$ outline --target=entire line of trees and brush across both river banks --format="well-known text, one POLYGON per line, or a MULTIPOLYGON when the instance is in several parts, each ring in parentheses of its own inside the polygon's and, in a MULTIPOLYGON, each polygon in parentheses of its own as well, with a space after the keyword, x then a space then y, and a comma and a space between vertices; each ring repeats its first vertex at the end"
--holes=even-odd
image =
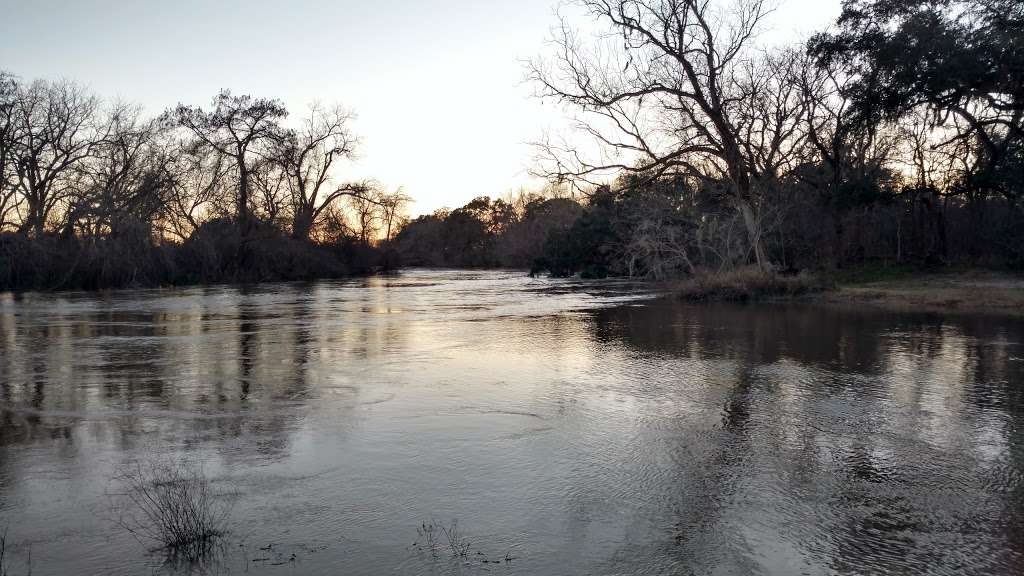
POLYGON ((0 289, 420 265, 670 278, 865 261, 1024 268, 1024 2, 845 0, 765 49, 763 0, 575 0, 531 64, 575 130, 544 195, 406 222, 339 181, 351 116, 218 94, 155 118, 0 74, 0 289), (601 28, 603 27, 603 30, 601 28))

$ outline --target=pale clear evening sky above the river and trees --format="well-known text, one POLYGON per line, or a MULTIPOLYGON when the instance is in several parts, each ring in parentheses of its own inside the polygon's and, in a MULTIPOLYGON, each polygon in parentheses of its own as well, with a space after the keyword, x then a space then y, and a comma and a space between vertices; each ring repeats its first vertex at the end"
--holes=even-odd
MULTIPOLYGON (((539 188, 530 141, 563 112, 534 97, 559 0, 0 0, 0 69, 67 78, 158 114, 222 88, 357 116, 359 156, 413 214, 539 188)), ((766 43, 806 38, 840 0, 781 0, 766 43)))

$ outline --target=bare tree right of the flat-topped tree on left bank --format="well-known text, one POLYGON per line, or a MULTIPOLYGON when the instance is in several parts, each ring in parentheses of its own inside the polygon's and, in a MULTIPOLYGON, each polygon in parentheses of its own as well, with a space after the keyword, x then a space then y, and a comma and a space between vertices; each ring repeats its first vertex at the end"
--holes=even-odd
POLYGON ((283 140, 276 157, 291 195, 293 238, 307 240, 324 211, 342 197, 375 202, 370 182, 334 182, 337 163, 355 155, 358 140, 348 128, 351 120, 351 113, 340 107, 313 105, 302 127, 283 140))

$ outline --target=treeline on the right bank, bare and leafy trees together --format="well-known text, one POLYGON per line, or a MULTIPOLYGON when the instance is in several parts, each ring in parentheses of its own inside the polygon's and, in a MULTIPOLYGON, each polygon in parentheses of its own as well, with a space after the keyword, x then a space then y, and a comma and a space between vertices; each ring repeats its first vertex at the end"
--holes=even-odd
POLYGON ((579 128, 538 142, 537 173, 580 202, 419 218, 398 237, 410 261, 650 278, 1024 268, 1019 0, 846 0, 831 32, 768 50, 758 0, 577 4, 604 29, 563 22, 530 77, 579 128))

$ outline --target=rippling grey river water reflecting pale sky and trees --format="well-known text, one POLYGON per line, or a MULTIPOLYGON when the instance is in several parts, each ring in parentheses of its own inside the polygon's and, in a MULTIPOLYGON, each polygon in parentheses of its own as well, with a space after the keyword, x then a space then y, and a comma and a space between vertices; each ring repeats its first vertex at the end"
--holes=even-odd
POLYGON ((7 569, 1024 570, 1024 322, 643 290, 411 271, 0 295, 7 569), (215 558, 120 526, 116 479, 154 458, 230 499, 215 558), (453 521, 466 558, 413 545, 453 521))

